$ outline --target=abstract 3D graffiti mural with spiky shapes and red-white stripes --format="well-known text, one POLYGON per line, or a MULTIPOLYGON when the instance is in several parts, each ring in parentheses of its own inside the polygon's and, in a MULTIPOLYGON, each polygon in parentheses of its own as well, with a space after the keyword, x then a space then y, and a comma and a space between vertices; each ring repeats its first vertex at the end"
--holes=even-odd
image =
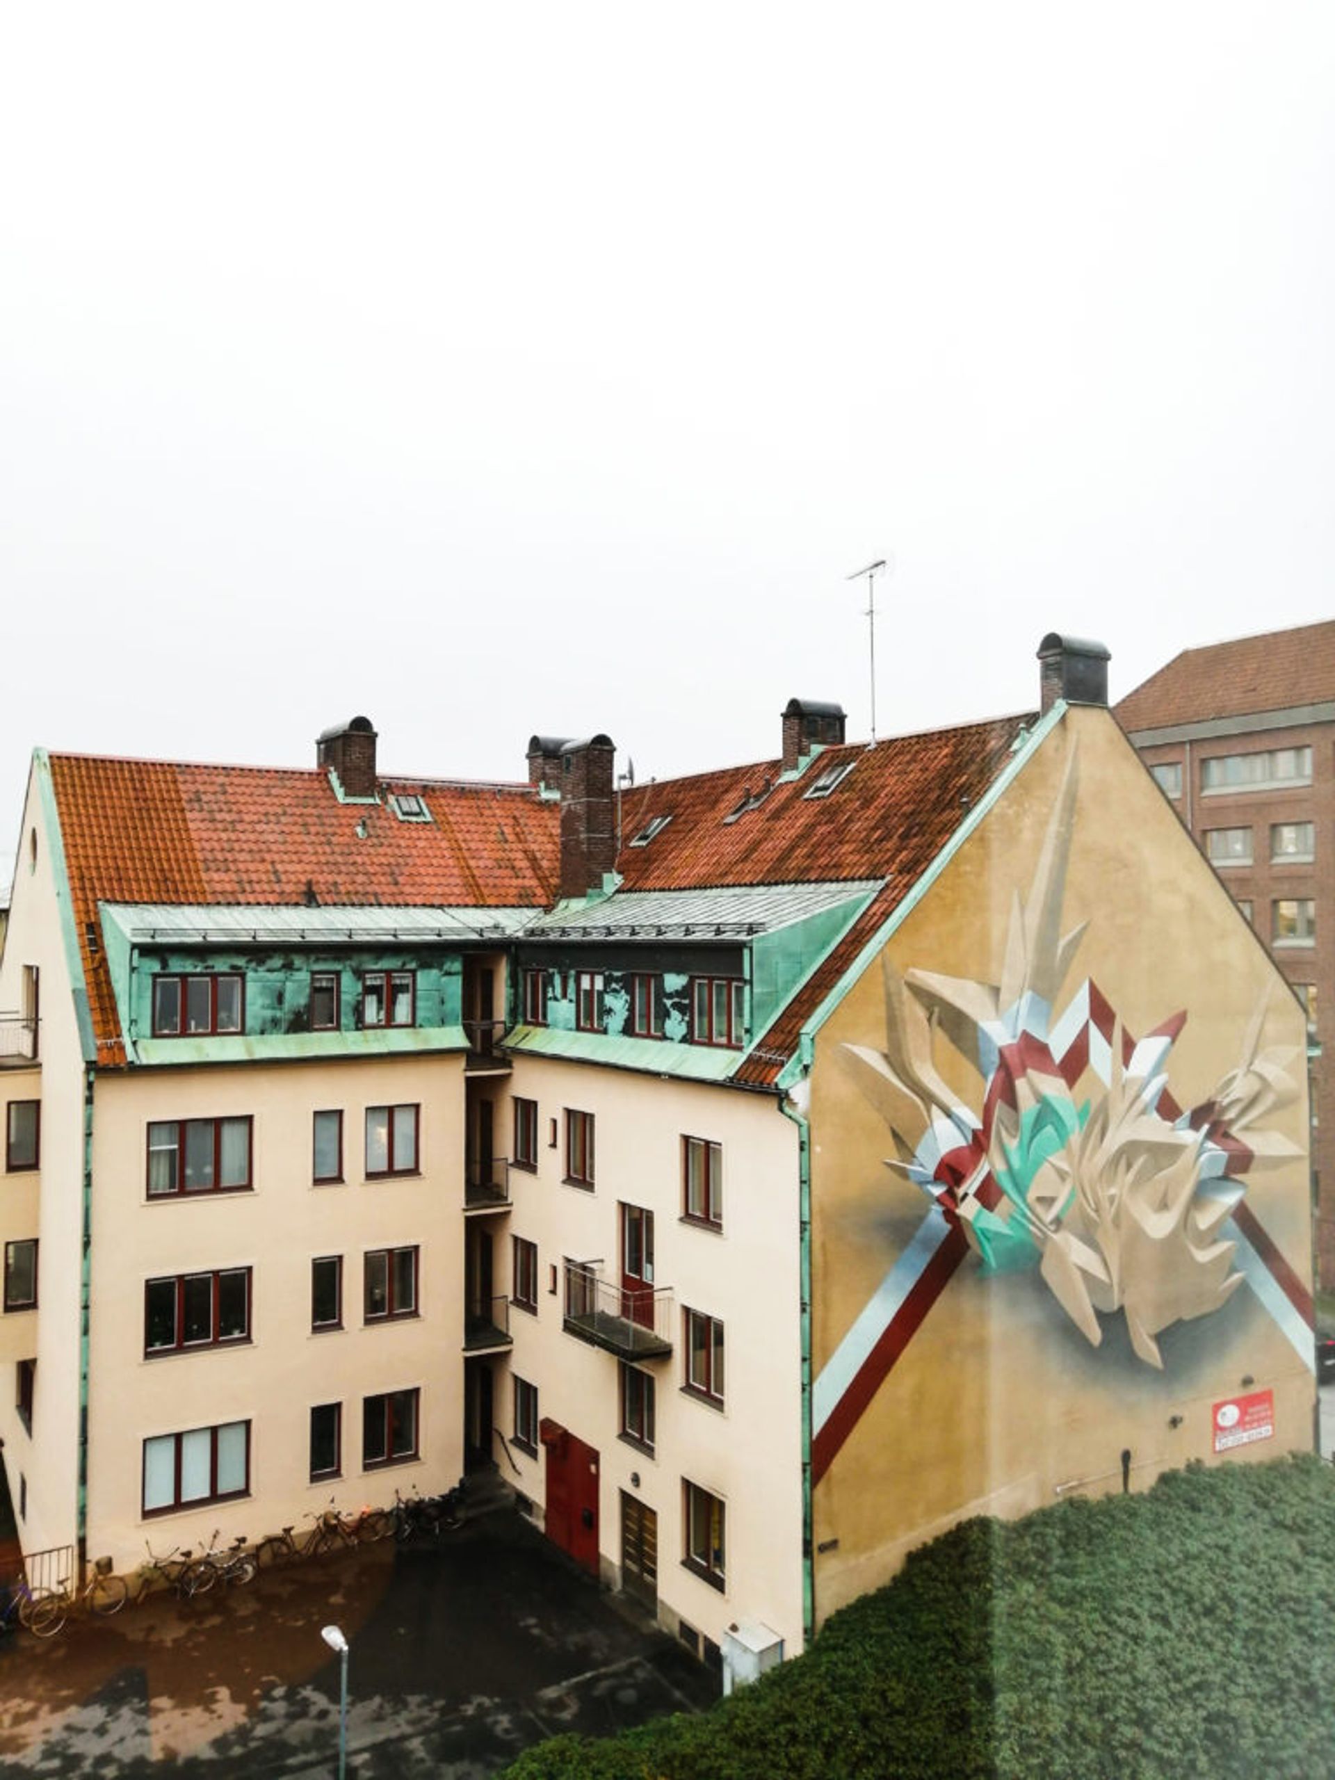
POLYGON ((1301 1155, 1271 1129, 1299 1091, 1301 1047, 1262 1045, 1266 991, 1228 1072, 1182 1107, 1169 1075, 1187 1011, 1136 1038, 1095 981, 1070 981, 1089 926, 1063 933, 1077 783, 1072 749, 997 979, 901 974, 883 956, 885 1041, 838 1047, 890 1132, 886 1166, 931 1210, 817 1376, 817 1479, 970 1258, 990 1273, 1036 1269, 1095 1347, 1100 1315, 1120 1312, 1155 1369, 1164 1330, 1248 1280, 1310 1356, 1310 1298, 1244 1205, 1248 1175, 1301 1155))

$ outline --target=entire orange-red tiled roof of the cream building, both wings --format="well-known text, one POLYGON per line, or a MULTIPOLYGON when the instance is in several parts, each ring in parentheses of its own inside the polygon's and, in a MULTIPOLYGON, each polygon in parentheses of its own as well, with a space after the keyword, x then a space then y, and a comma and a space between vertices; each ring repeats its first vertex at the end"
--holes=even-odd
MULTIPOLYGON (((771 1086, 797 1036, 867 940, 917 883, 1011 758, 1032 714, 828 748, 724 822, 780 762, 664 780, 627 792, 618 869, 628 890, 888 878, 851 931, 765 1032, 735 1080, 771 1086), (806 792, 853 762, 829 797, 806 792), (646 847, 653 815, 673 821, 646 847)), ((555 895, 559 806, 527 785, 390 780, 425 797, 434 822, 383 805, 338 803, 324 773, 52 755, 75 924, 101 1063, 123 1063, 98 902, 290 902, 545 906, 555 895), (358 824, 367 837, 360 838, 358 824)))

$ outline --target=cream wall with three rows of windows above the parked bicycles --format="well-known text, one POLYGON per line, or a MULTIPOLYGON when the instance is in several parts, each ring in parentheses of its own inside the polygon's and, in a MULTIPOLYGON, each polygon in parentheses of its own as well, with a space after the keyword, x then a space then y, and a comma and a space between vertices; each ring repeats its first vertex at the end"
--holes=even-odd
POLYGON ((246 1533, 253 1541, 340 1508, 393 1502, 395 1486, 449 1488, 463 1468, 463 1059, 139 1070, 101 1077, 93 1175, 89 1552, 128 1566, 153 1549, 246 1533), (368 1105, 418 1104, 420 1173, 365 1178, 368 1105), (312 1184, 312 1114, 344 1111, 344 1184, 312 1184), (246 1114, 249 1193, 146 1200, 146 1127, 246 1114), (363 1253, 420 1250, 411 1319, 363 1326, 363 1253), (344 1257, 344 1328, 312 1333, 312 1260, 344 1257), (253 1269, 251 1342, 144 1358, 144 1282, 253 1269), (420 1390, 420 1460, 363 1472, 361 1399, 420 1390), (315 1404, 344 1404, 342 1479, 310 1483, 315 1404), (141 1513, 146 1438, 251 1422, 246 1501, 141 1513))

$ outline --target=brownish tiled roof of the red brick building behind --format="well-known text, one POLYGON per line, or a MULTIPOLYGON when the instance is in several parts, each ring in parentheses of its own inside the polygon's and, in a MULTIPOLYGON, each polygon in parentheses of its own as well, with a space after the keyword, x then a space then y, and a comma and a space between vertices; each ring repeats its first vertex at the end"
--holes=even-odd
POLYGON ((1335 698, 1335 619, 1184 650, 1116 707, 1123 730, 1246 717, 1335 698))

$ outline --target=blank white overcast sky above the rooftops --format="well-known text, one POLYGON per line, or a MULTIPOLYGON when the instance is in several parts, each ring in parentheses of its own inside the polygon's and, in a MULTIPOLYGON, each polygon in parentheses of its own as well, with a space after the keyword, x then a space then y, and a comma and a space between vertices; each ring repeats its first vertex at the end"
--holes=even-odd
POLYGON ((1335 9, 0 14, 34 744, 641 778, 1335 612, 1335 9))

